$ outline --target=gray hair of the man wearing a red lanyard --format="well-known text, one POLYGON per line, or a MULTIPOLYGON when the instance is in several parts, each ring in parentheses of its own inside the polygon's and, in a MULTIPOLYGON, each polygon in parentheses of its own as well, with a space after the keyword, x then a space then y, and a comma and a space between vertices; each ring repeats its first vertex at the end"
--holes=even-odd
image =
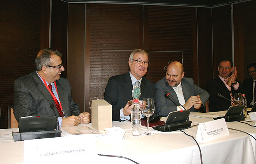
POLYGON ((40 50, 36 56, 36 70, 42 70, 43 66, 51 65, 50 58, 52 55, 62 56, 60 52, 52 48, 43 48, 40 50))

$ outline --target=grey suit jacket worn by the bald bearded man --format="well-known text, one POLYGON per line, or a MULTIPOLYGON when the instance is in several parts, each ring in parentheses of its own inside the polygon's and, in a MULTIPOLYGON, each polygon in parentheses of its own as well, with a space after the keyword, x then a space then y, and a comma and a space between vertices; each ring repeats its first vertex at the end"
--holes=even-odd
MULTIPOLYGON (((182 78, 181 80, 181 86, 182 86, 182 92, 185 101, 187 101, 191 96, 197 96, 200 95, 200 99, 202 100, 202 105, 204 106, 205 102, 209 98, 209 94, 206 92, 206 90, 203 90, 202 88, 195 85, 194 80, 192 78, 182 78)), ((156 104, 156 111, 158 112, 158 115, 162 116, 168 116, 170 112, 177 111, 177 106, 179 104, 176 104, 172 102, 172 100, 169 100, 169 98, 166 98, 165 92, 169 92, 170 95, 177 101, 178 96, 174 89, 170 87, 165 77, 156 82, 155 86, 155 104, 156 104)), ((190 108, 191 111, 197 112, 198 110, 194 107, 190 108)))

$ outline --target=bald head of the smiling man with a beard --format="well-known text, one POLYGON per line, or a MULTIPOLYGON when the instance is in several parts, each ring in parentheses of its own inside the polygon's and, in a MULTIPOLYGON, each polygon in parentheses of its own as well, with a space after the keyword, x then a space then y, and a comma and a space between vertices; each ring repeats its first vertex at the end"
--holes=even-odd
POLYGON ((184 68, 180 62, 171 62, 166 70, 165 80, 171 87, 176 87, 180 84, 184 77, 184 68))

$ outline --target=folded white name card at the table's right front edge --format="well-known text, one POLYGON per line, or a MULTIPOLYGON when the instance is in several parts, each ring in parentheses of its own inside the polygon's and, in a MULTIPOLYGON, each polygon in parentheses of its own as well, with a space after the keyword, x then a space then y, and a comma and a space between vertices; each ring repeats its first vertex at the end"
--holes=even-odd
POLYGON ((229 134, 224 118, 200 123, 196 132, 196 141, 200 143, 209 142, 229 134))

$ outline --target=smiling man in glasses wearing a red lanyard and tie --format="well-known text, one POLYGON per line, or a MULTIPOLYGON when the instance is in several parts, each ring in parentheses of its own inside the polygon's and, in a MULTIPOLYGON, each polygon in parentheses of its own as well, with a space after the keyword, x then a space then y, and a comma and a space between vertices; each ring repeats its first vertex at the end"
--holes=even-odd
POLYGON ((51 48, 40 50, 36 56, 36 70, 14 82, 14 116, 55 116, 60 126, 88 124, 90 114, 80 113, 71 97, 70 83, 61 78, 64 71, 62 54, 51 48))

